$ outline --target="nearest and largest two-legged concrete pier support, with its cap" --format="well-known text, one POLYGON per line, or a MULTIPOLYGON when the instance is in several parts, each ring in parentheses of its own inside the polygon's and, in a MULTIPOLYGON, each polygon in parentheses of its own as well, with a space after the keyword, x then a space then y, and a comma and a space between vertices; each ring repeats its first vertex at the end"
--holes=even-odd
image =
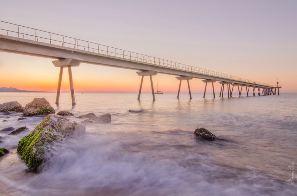
POLYGON ((61 92, 61 83, 62 83, 62 75, 63 75, 63 68, 68 67, 68 76, 69 76, 69 84, 70 84, 70 93, 71 93, 71 100, 72 106, 75 105, 75 95, 74 95, 74 87, 73 87, 73 79, 72 79, 72 70, 71 67, 77 67, 82 62, 82 59, 79 58, 66 58, 60 60, 52 61, 55 67, 60 67, 60 74, 59 74, 59 81, 58 81, 58 89, 56 95, 56 104, 59 105, 59 98, 61 92))

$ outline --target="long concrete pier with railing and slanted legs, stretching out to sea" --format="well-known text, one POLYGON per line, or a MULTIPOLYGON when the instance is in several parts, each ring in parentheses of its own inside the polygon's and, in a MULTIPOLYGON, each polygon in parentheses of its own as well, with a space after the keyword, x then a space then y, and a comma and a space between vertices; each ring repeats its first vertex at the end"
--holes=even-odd
POLYGON ((4 21, 0 21, 0 51, 57 59, 52 61, 54 66, 60 67, 56 104, 59 104, 63 68, 68 68, 72 105, 75 105, 71 67, 79 66, 81 62, 137 70, 136 73, 141 76, 138 100, 140 100, 144 76, 150 76, 153 100, 155 100, 152 76, 158 73, 175 75, 180 80, 177 98, 179 98, 181 81, 187 80, 190 99, 192 99, 189 80, 193 78, 202 79, 205 82, 203 97, 205 97, 207 83, 212 83, 215 98, 214 82, 217 81, 221 84, 220 97, 223 97, 225 85, 228 97, 232 97, 234 86, 238 87, 239 97, 243 87, 245 87, 247 96, 249 96, 250 88, 253 89, 253 96, 256 94, 258 96, 275 95, 276 93, 279 95, 279 88, 281 88, 278 85, 272 86, 4 21))

